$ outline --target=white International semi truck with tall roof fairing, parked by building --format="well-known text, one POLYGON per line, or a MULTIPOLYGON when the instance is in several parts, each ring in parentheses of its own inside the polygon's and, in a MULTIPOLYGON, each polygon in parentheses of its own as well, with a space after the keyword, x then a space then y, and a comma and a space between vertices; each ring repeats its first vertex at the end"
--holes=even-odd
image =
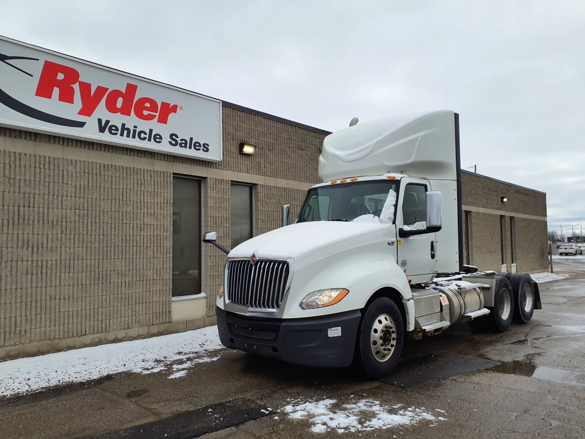
POLYGON ((229 252, 215 232, 204 235, 228 253, 216 303, 222 344, 380 378, 407 335, 531 320, 541 301, 529 275, 463 265, 459 115, 354 122, 326 136, 323 183, 294 224, 229 252))

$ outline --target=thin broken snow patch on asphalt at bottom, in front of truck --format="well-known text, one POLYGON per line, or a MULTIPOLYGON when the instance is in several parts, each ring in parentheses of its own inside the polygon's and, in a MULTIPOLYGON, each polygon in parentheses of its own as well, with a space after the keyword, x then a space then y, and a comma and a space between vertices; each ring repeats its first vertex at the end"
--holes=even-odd
MULTIPOLYGON (((311 421, 313 424, 311 431, 314 433, 326 433, 333 430, 337 433, 355 433, 374 430, 374 428, 385 429, 415 424, 422 420, 446 420, 439 414, 429 413, 424 407, 403 408, 402 404, 389 406, 372 399, 362 399, 348 404, 338 404, 335 399, 307 402, 292 400, 282 410, 292 419, 311 421)), ((435 411, 445 414, 443 410, 435 409, 435 411)))

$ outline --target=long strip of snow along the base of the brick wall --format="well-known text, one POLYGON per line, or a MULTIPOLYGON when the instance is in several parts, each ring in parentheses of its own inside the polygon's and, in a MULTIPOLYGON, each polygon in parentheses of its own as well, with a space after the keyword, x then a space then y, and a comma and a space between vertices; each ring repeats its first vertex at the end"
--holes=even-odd
POLYGON ((0 397, 85 382, 118 372, 187 374, 195 363, 215 361, 222 349, 216 326, 0 362, 0 397))

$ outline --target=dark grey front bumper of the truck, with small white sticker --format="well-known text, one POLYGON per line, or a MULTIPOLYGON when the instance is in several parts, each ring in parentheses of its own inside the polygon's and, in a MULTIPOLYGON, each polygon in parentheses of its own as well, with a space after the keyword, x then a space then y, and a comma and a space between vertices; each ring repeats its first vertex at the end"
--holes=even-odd
POLYGON ((231 349, 315 367, 351 365, 362 313, 269 319, 216 308, 219 339, 231 349))

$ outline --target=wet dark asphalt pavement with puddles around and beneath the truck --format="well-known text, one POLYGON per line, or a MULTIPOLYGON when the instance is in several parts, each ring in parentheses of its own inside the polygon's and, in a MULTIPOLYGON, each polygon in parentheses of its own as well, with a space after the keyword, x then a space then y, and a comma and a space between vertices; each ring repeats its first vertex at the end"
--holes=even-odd
POLYGON ((181 378, 119 373, 0 399, 0 438, 583 438, 585 259, 555 258, 555 272, 572 276, 540 284, 530 323, 411 341, 382 380, 222 349, 181 378), (298 408, 326 399, 329 424, 298 408), (364 401, 373 409, 347 410, 364 401))

